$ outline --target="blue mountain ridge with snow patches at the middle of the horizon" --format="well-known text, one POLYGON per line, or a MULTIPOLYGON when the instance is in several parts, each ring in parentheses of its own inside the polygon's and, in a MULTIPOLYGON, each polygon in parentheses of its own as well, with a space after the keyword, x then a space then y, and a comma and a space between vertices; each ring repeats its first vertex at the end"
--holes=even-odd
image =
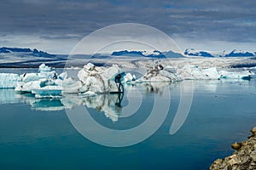
POLYGON ((135 57, 149 57, 149 58, 180 58, 183 54, 175 53, 172 51, 160 52, 158 50, 154 51, 113 51, 111 54, 113 56, 135 56, 135 57))

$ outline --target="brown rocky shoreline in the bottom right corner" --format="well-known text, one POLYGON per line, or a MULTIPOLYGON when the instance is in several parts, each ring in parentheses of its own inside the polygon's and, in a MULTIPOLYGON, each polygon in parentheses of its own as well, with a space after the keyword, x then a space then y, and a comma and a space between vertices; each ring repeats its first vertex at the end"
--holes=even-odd
POLYGON ((241 143, 232 144, 236 150, 232 156, 224 159, 217 159, 210 167, 210 170, 253 170, 256 169, 256 127, 252 130, 252 135, 241 143))

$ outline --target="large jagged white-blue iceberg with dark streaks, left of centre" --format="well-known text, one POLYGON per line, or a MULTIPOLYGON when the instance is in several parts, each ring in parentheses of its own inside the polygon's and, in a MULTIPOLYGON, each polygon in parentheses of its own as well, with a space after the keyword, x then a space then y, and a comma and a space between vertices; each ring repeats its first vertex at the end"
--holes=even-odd
MULTIPOLYGON (((58 98, 62 94, 86 94, 119 92, 119 85, 124 80, 125 72, 118 65, 97 67, 91 63, 79 71, 79 81, 67 77, 67 72, 57 75, 47 65, 40 65, 38 73, 25 73, 16 83, 15 91, 35 94, 36 98, 58 98), (119 78, 117 78, 119 77, 119 78)), ((125 81, 128 81, 129 75, 125 81)), ((123 86, 121 86, 122 91, 123 86)))

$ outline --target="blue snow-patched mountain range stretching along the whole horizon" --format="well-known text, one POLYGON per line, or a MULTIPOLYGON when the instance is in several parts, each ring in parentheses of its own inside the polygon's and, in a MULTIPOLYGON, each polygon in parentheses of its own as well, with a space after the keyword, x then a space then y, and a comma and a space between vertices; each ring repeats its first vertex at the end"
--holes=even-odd
MULTIPOLYGON (((15 56, 34 56, 41 58, 55 58, 60 57, 63 58, 64 55, 60 54, 49 54, 47 52, 38 50, 36 48, 8 48, 3 47, 0 48, 0 55, 15 55, 15 56)), ((80 55, 79 55, 80 56, 80 55)), ((88 55, 87 55, 88 56, 88 55)), ((139 51, 139 50, 119 50, 113 51, 111 54, 95 54, 92 58, 105 58, 105 57, 118 57, 118 56, 129 56, 129 57, 146 57, 146 58, 181 58, 185 56, 191 57, 254 57, 256 56, 256 52, 249 51, 241 51, 241 50, 232 50, 232 51, 208 51, 208 50, 197 50, 195 48, 187 48, 183 54, 175 53, 172 51, 164 51, 160 52, 159 50, 154 50, 151 52, 148 51, 139 51)), ((67 58, 67 54, 66 54, 67 58)), ((80 56, 80 58, 83 58, 80 56)))

